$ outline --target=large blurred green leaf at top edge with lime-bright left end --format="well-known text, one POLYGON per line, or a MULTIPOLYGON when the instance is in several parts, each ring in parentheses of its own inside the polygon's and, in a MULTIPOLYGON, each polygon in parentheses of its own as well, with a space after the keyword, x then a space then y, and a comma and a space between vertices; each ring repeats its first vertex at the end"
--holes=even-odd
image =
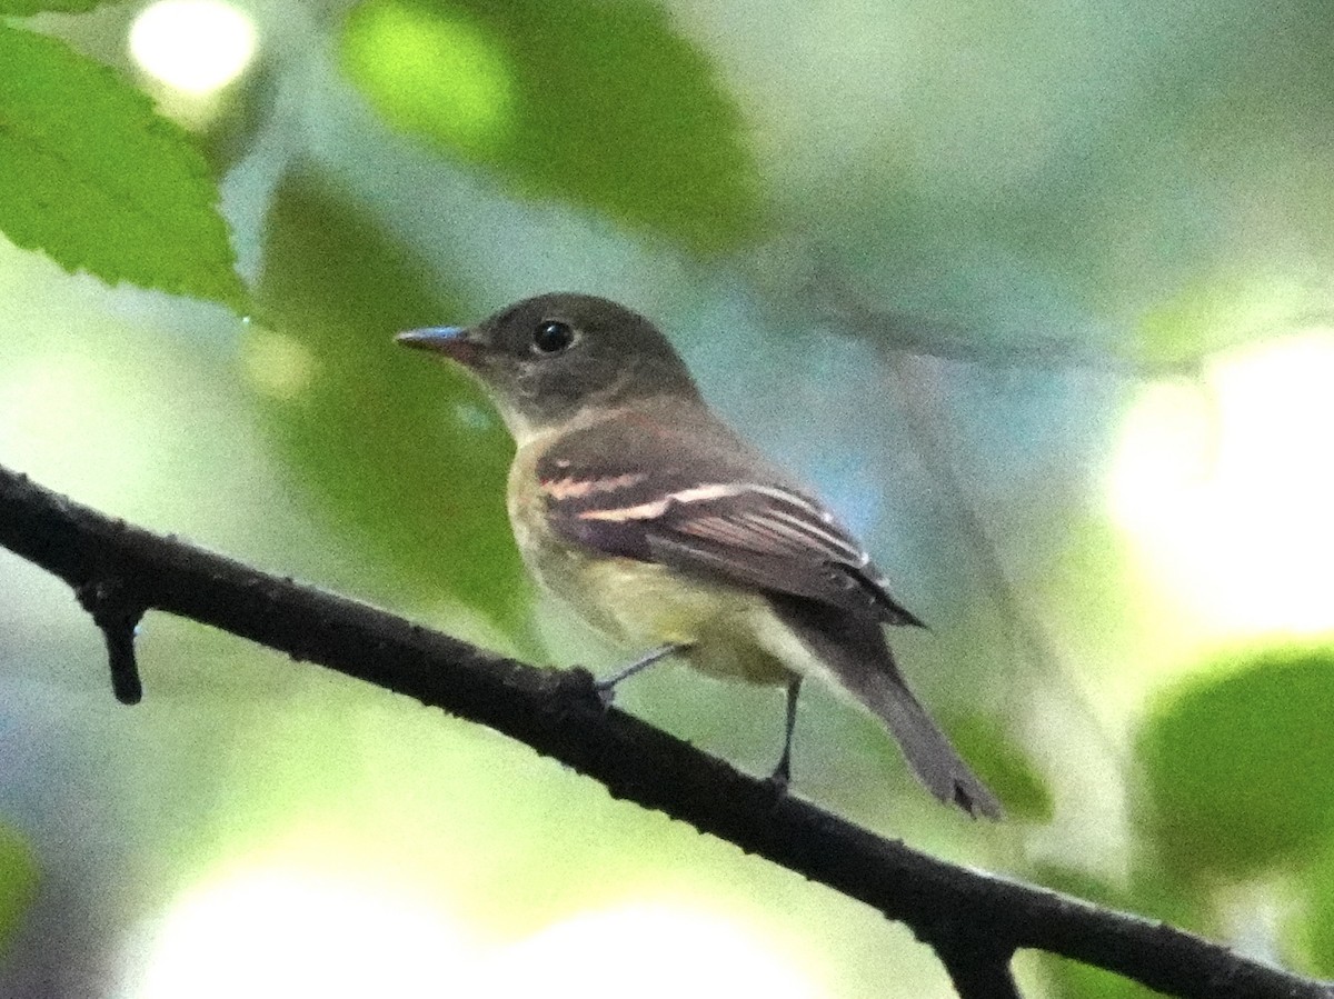
POLYGON ((370 0, 342 37, 348 76, 395 127, 702 252, 759 231, 731 99, 644 0, 370 0))

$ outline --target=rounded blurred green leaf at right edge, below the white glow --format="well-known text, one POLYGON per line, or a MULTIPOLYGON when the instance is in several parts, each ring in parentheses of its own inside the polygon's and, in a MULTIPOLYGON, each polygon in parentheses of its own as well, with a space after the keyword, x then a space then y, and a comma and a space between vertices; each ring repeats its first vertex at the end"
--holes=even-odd
POLYGON ((1219 664, 1146 723, 1139 759, 1163 862, 1254 874, 1334 832, 1334 651, 1219 664))

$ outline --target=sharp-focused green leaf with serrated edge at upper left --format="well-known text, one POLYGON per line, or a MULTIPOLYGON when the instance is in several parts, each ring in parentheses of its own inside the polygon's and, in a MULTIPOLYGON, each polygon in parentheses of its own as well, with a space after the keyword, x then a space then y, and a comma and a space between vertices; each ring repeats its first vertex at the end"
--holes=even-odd
POLYGON ((0 231, 89 271, 243 311, 217 188, 183 129, 63 41, 0 24, 0 231))

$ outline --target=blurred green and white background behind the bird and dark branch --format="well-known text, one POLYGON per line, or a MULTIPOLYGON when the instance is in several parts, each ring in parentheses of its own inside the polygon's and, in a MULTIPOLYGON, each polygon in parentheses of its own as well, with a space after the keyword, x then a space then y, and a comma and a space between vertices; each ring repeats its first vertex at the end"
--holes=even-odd
MULTIPOLYGON (((23 101, 77 73, 0 69, 0 463, 607 667, 523 579, 496 417, 391 336, 616 297, 868 540, 1010 816, 935 806, 815 690, 796 794, 1334 976, 1327 3, 0 13, 56 7, 5 51, 60 39, 184 128, 247 291, 167 243, 99 263, 120 229, 37 252, 21 205, 65 192, 23 101)), ((76 107, 108 199, 155 216, 157 172, 76 107)), ((951 995, 902 927, 492 732, 160 615, 140 650, 121 707, 69 592, 0 551, 0 995, 951 995)), ((664 666, 618 696, 755 772, 779 748, 778 691, 664 666)))

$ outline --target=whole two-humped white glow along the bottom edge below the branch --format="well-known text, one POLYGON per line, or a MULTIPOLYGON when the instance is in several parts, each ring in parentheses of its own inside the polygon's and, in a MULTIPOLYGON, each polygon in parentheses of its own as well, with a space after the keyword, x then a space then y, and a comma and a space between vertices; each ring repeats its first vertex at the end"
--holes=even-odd
POLYGON ((124 999, 818 999, 791 954, 715 912, 636 903, 486 944, 402 888, 253 870, 184 898, 133 948, 124 999), (684 956, 684 955, 688 955, 684 956))

